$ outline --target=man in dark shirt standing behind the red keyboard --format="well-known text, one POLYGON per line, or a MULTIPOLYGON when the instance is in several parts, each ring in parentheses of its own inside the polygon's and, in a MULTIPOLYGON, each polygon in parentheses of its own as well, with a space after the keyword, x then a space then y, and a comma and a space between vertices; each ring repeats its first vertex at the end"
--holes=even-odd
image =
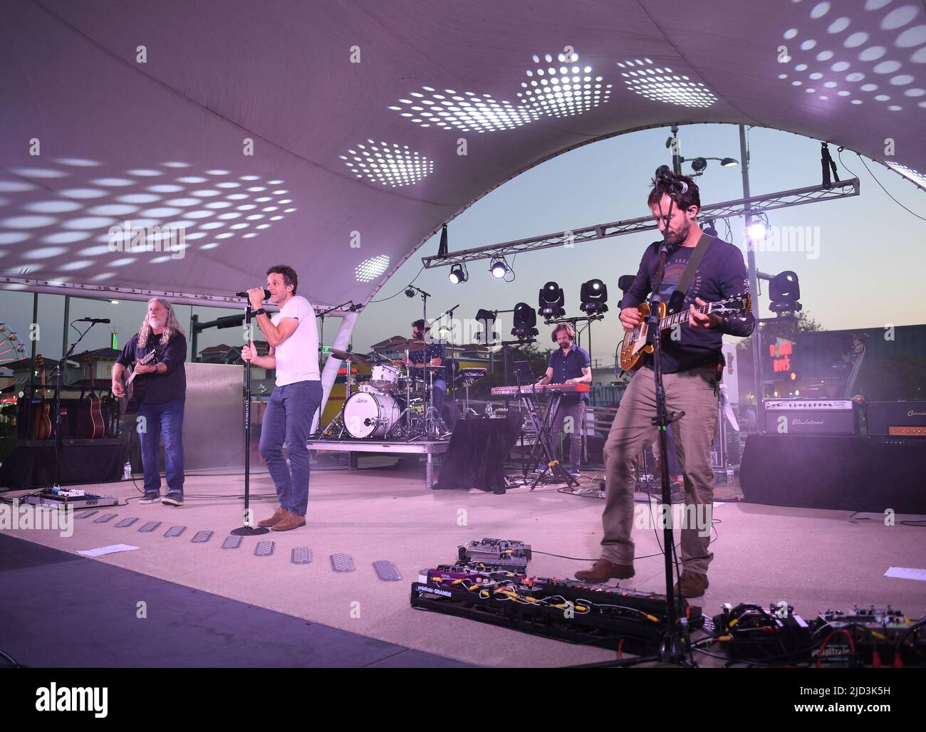
MULTIPOLYGON (((550 354, 550 362, 544 377, 537 381, 544 384, 592 384, 592 361, 588 352, 575 344, 576 331, 569 323, 557 323, 550 338, 559 347, 550 354)), ((573 478, 579 477, 582 462, 582 425, 585 417, 585 403, 588 391, 563 394, 559 400, 557 414, 553 416, 550 437, 559 441, 560 430, 566 432, 569 440, 569 465, 564 465, 573 478)), ((565 458, 565 445, 563 446, 565 458)), ((565 461, 564 461, 565 462, 565 461)))

